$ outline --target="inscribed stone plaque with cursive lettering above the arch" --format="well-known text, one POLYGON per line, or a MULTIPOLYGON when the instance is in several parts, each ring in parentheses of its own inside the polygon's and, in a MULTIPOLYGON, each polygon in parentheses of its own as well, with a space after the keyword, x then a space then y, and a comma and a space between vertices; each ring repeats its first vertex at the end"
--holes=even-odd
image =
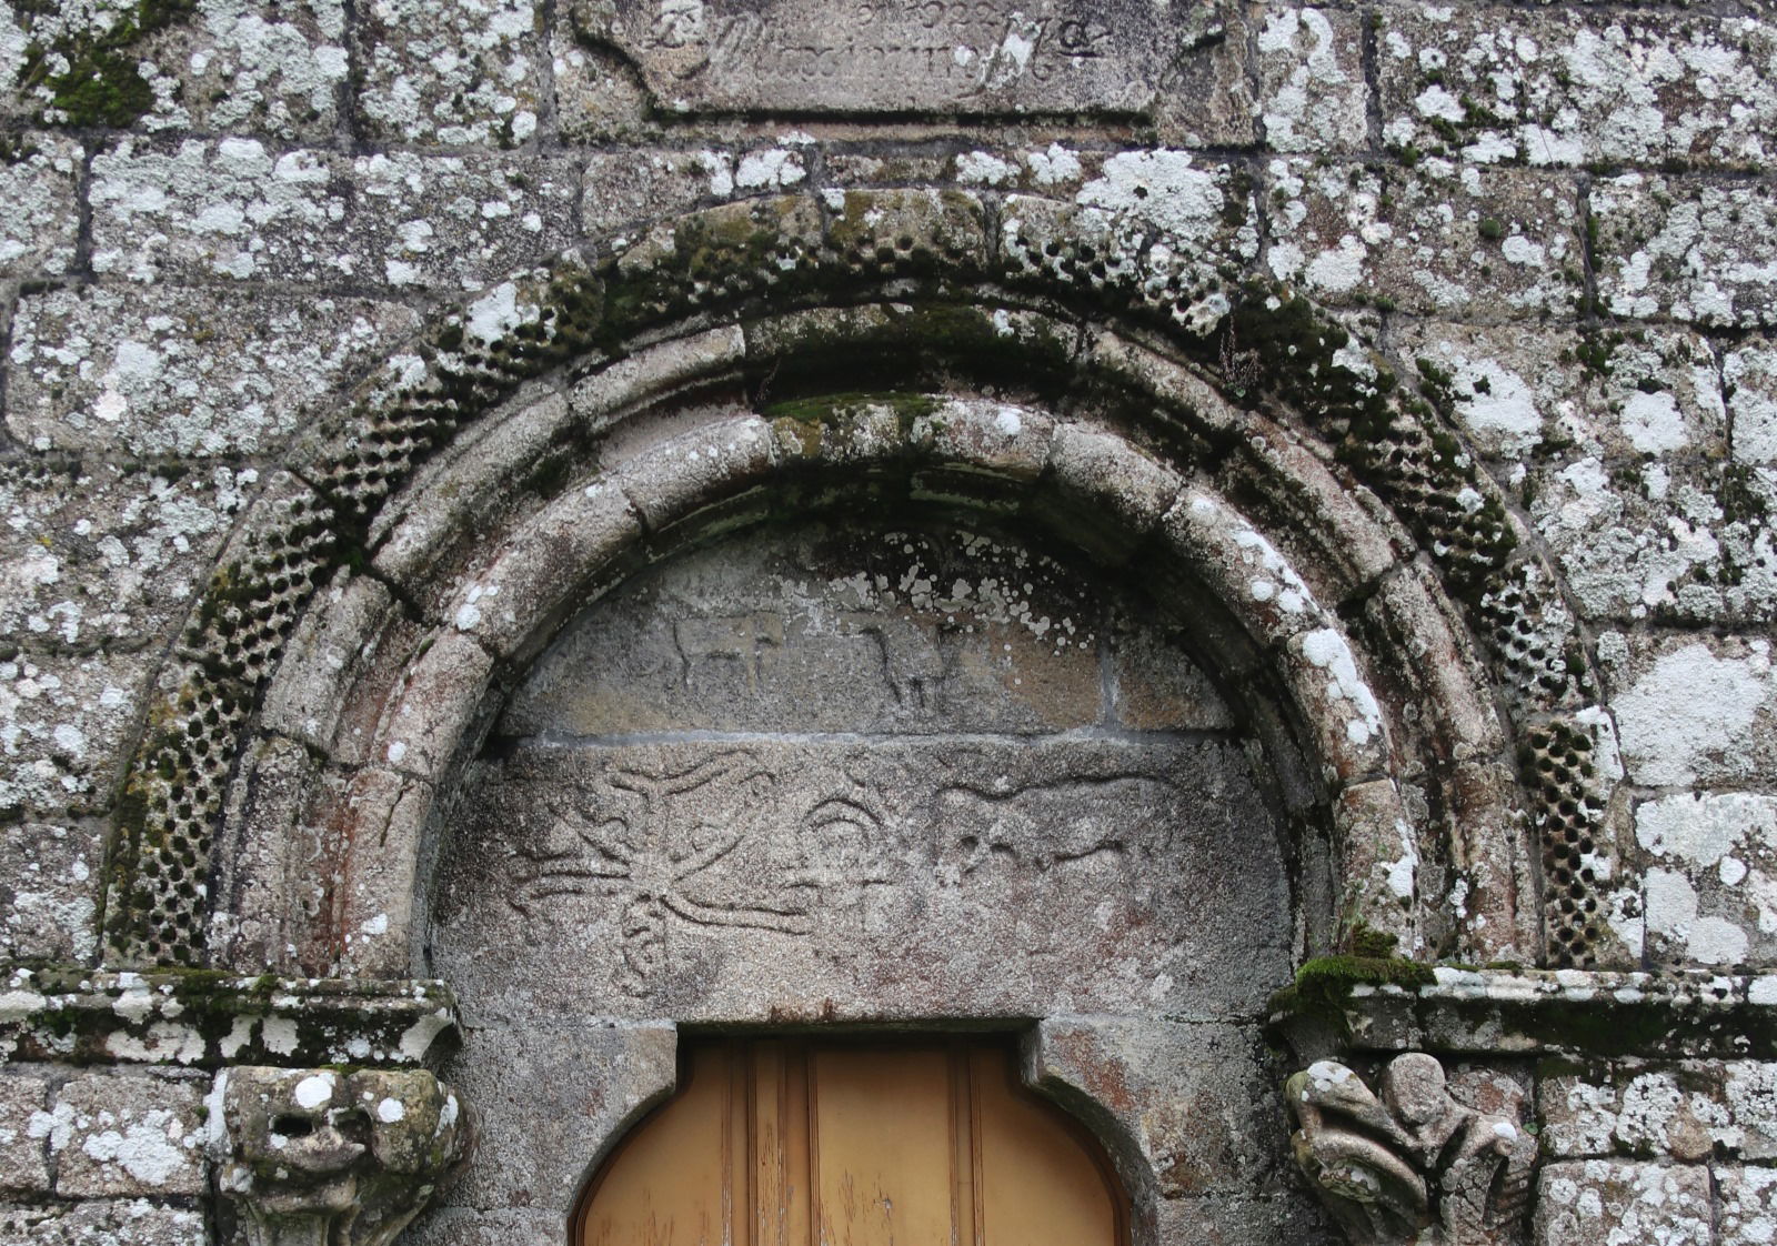
POLYGON ((1146 114, 1207 0, 583 0, 665 108, 1146 114))

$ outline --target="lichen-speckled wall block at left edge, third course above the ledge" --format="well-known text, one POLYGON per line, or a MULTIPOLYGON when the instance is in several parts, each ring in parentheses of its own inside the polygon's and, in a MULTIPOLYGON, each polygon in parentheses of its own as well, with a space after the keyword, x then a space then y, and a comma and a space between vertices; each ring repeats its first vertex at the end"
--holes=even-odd
POLYGON ((165 636, 258 480, 226 464, 0 464, 0 635, 119 649, 165 636))

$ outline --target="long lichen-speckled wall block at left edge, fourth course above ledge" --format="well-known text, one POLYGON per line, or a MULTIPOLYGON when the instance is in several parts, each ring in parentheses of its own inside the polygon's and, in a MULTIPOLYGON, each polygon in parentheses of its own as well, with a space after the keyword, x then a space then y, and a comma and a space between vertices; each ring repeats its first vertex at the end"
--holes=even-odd
POLYGON ((7 428, 39 450, 268 453, 418 327, 412 309, 370 299, 46 290, 12 316, 7 428))

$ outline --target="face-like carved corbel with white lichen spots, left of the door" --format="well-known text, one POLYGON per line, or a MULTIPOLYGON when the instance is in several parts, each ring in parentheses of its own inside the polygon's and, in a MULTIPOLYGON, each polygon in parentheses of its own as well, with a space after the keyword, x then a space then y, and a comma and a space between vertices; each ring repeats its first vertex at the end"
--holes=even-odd
POLYGON ((455 1091, 421 1070, 229 1068, 217 1186, 251 1246, 384 1246, 467 1150, 455 1091))

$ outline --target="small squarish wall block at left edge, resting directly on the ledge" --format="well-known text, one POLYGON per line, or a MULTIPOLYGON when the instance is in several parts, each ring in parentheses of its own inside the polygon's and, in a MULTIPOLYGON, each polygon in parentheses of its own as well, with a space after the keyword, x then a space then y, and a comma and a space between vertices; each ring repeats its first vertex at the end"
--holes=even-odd
POLYGON ((0 956, 78 960, 98 949, 103 828, 27 821, 0 832, 0 956))

